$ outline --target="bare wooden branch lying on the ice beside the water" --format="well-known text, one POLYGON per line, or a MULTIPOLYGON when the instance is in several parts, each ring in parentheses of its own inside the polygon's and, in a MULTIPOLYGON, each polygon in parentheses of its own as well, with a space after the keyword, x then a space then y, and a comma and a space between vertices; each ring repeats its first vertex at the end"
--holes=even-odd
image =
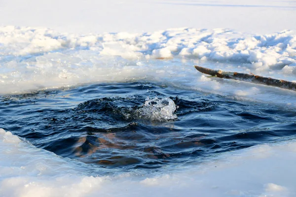
POLYGON ((284 88, 284 89, 296 91, 296 83, 290 82, 290 81, 273 79, 269 77, 262 77, 254 74, 213 70, 213 69, 209 69, 201 66, 194 66, 194 67, 202 73, 209 74, 219 78, 247 81, 247 82, 258 83, 258 84, 263 84, 267 86, 275 86, 278 88, 284 88))

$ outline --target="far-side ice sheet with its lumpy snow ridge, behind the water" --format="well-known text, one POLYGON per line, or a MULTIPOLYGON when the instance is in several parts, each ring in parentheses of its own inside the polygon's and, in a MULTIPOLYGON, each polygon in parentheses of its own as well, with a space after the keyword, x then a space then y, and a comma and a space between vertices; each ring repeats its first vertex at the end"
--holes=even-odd
POLYGON ((179 28, 81 35, 6 26, 0 28, 0 43, 0 94, 145 80, 232 98, 295 105, 291 91, 209 79, 193 67, 197 64, 293 81, 293 31, 259 35, 179 28))

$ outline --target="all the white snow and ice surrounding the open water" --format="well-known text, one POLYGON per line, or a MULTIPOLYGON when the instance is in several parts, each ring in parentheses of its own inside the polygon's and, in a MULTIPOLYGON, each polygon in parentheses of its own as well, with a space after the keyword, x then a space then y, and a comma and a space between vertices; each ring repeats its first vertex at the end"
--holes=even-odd
MULTIPOLYGON (((295 110, 293 91, 193 67, 295 81, 295 18, 295 0, 0 1, 0 95, 147 80, 295 110)), ((0 196, 294 197, 295 152, 292 140, 158 174, 93 177, 104 173, 0 129, 0 196)))

